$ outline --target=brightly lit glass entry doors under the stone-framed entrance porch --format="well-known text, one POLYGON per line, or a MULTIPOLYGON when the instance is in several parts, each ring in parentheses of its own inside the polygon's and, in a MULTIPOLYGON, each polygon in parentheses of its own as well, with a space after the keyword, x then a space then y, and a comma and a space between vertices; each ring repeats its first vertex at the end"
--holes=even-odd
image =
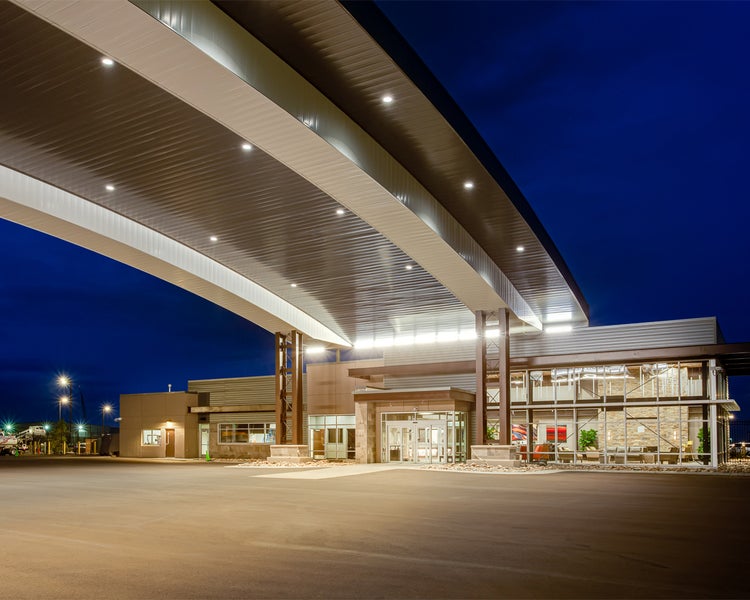
POLYGON ((381 462, 451 463, 466 460, 466 413, 382 413, 381 416, 381 462))

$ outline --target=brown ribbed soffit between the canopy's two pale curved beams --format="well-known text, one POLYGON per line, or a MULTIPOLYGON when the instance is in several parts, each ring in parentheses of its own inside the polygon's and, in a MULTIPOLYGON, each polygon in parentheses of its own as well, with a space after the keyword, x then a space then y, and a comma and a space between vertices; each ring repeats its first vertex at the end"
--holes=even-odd
POLYGON ((0 163, 205 253, 352 341, 430 314, 470 322, 395 245, 199 111, 13 4, 0 4, 0 45, 0 163))

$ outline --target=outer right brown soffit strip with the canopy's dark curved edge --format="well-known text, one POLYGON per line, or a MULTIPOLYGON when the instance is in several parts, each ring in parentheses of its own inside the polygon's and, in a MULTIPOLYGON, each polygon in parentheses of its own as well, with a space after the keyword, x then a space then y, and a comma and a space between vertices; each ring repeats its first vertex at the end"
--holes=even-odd
POLYGON ((345 3, 376 40, 387 42, 396 60, 336 2, 214 0, 214 4, 405 165, 480 243, 537 314, 570 311, 575 320, 588 320, 588 305, 533 210, 460 109, 377 8, 368 2, 345 3), (410 77, 418 79, 422 89, 410 77), (430 99, 422 91, 425 88, 430 99), (387 118, 379 118, 386 92, 395 101, 387 118), (451 123, 432 104, 436 97, 444 112, 451 113, 451 123), (471 148, 452 126, 456 122, 464 137, 471 138, 471 148), (481 161, 475 153, 481 154, 481 161), (462 187, 466 179, 476 184, 470 192, 462 187), (516 251, 519 245, 525 247, 523 253, 516 251))

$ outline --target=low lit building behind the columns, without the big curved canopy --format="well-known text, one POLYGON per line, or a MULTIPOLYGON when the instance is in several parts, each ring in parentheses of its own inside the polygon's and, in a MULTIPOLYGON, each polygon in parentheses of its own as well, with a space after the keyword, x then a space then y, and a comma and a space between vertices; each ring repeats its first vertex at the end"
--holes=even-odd
MULTIPOLYGON (((723 343, 715 319, 526 334, 511 343, 508 422, 517 461, 727 460, 738 410, 727 376, 746 368, 747 345, 723 343)), ((377 359, 342 360, 340 350, 310 356, 302 377, 304 456, 425 464, 477 458, 478 446, 499 442, 503 416, 500 388, 490 383, 486 437, 477 435, 475 346, 446 339, 387 348, 377 359)), ((266 376, 123 395, 123 455, 266 459, 277 442, 275 394, 276 378, 266 376)))

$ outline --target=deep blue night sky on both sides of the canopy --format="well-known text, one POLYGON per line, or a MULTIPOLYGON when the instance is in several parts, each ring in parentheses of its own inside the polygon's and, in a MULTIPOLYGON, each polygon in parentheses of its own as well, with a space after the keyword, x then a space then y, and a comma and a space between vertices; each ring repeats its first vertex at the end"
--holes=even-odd
MULTIPOLYGON (((592 325, 716 316, 750 341, 750 3, 379 5, 523 190, 592 325)), ((169 284, 2 220, 0 252, 0 420, 56 419, 63 371, 93 421, 120 393, 273 370, 271 334, 169 284)))

